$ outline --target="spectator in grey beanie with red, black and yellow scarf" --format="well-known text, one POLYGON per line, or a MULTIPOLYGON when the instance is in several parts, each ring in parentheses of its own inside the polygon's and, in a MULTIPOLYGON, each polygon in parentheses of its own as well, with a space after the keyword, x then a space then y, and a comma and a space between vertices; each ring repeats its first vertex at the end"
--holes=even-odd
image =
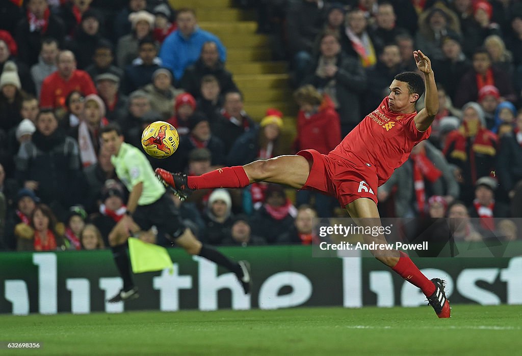
POLYGON ((497 136, 486 129, 484 111, 477 103, 464 105, 462 123, 446 137, 444 155, 458 167, 460 198, 465 204, 471 204, 477 180, 494 170, 496 154, 497 136))

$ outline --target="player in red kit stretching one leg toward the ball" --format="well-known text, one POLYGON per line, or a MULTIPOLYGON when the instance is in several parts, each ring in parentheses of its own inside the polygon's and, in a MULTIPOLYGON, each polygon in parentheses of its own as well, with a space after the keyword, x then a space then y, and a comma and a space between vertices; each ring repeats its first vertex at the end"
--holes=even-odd
MULTIPOLYGON (((377 187, 404 163, 413 146, 429 137, 430 125, 438 111, 438 95, 431 61, 420 50, 413 52, 424 75, 397 74, 390 94, 367 115, 328 155, 303 150, 293 156, 258 160, 246 166, 225 167, 201 176, 172 174, 157 169, 158 178, 181 197, 194 189, 241 188, 254 182, 286 184, 298 189, 314 189, 335 196, 359 226, 375 226, 379 221, 377 187), (415 104, 425 93, 425 107, 415 104)), ((380 225, 380 223, 378 223, 380 225)), ((364 236, 366 243, 386 244, 384 235, 364 236)), ((449 317, 449 302, 441 279, 428 279, 402 251, 371 251, 409 283, 419 287, 438 317, 449 317)))

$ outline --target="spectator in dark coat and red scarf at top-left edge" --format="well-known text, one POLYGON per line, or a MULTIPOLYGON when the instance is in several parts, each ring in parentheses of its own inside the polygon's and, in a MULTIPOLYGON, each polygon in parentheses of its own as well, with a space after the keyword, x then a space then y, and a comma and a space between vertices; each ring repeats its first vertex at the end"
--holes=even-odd
POLYGON ((27 16, 18 23, 15 33, 18 57, 28 66, 38 63, 42 39, 52 37, 62 43, 66 34, 63 21, 51 14, 46 0, 27 2, 27 16))

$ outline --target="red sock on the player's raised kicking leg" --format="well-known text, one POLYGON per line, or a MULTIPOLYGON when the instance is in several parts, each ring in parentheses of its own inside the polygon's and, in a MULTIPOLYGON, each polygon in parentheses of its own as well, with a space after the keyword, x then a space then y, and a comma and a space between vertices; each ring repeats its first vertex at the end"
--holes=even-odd
POLYGON ((187 184, 191 189, 243 188, 250 184, 250 180, 242 166, 235 166, 220 168, 202 175, 188 176, 187 184))

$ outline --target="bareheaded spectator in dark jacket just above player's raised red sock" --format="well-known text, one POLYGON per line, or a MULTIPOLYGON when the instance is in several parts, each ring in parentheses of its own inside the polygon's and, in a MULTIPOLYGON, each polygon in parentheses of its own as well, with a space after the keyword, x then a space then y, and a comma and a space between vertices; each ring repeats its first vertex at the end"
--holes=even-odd
MULTIPOLYGON (((212 120, 212 118, 209 118, 212 120)), ((223 108, 220 115, 211 121, 212 132, 225 145, 225 152, 230 152, 236 139, 256 128, 254 120, 244 110, 243 95, 239 91, 224 94, 223 108)))

